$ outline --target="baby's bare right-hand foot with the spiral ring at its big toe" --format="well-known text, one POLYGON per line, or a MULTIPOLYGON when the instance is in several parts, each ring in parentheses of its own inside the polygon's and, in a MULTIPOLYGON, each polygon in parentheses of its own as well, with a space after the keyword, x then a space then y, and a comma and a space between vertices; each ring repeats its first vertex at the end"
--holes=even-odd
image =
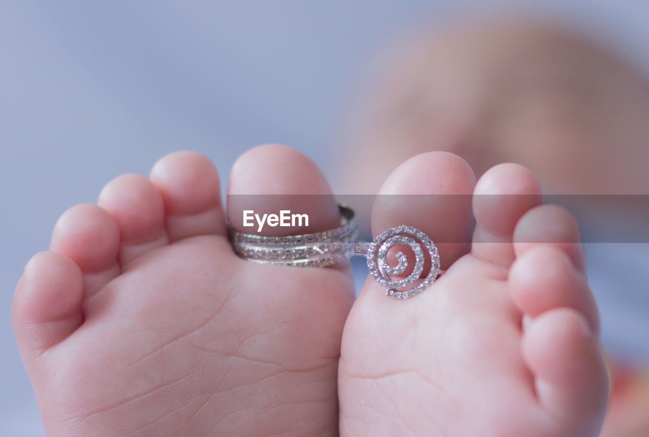
POLYGON ((607 377, 578 225, 542 204, 521 166, 474 180, 461 158, 437 152, 411 158, 384 184, 384 194, 474 192, 477 224, 463 254, 472 227, 463 197, 374 204, 374 234, 417 227, 443 242, 450 267, 406 301, 373 278, 363 286, 343 332, 341 435, 598 435, 607 377))

